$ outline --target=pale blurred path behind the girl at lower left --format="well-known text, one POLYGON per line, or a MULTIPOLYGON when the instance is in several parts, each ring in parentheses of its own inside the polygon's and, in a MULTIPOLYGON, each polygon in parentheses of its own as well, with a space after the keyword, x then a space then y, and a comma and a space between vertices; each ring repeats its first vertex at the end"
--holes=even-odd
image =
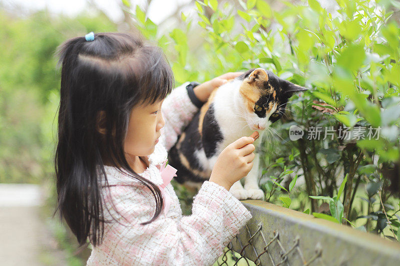
POLYGON ((0 265, 65 265, 40 216, 42 204, 39 185, 0 184, 0 265))

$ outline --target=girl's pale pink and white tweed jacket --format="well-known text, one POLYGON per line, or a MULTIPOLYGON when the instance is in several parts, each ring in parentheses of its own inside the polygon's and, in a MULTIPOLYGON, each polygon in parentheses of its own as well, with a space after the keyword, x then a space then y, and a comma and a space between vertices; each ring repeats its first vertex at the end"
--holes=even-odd
MULTIPOLYGON (((165 126, 149 155, 149 167, 141 176, 162 184, 157 168, 167 158, 198 108, 190 101, 184 83, 165 98, 161 112, 165 126)), ((155 212, 151 191, 115 168, 104 166, 108 190, 103 184, 104 223, 101 245, 92 249, 87 265, 212 265, 224 247, 251 219, 250 212, 222 186, 205 181, 193 198, 192 215, 182 216, 178 198, 169 183, 165 191, 172 202, 167 214, 149 221, 155 212), (127 186, 128 185, 128 186, 127 186), (112 203, 111 203, 112 200, 112 203)), ((179 175, 179 172, 176 173, 179 175)))

